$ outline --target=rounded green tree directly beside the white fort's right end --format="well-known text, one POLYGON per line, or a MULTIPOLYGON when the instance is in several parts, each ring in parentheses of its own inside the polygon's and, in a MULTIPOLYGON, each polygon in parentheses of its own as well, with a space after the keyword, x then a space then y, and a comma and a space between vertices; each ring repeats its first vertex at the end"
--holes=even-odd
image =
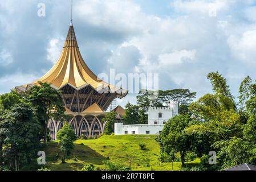
POLYGON ((189 135, 185 133, 190 121, 189 115, 177 115, 169 119, 157 138, 161 152, 166 152, 168 155, 180 152, 182 166, 185 166, 186 152, 191 148, 189 135))

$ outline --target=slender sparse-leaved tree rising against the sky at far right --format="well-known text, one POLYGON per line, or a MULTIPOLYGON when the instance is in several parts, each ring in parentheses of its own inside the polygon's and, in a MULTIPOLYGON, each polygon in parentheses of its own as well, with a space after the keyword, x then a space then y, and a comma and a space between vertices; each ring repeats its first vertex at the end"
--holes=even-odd
POLYGON ((251 78, 249 76, 245 77, 245 79, 241 82, 241 85, 239 87, 239 93, 240 96, 238 96, 239 98, 239 102, 238 105, 240 107, 241 111, 245 110, 245 102, 248 100, 248 98, 250 97, 250 86, 251 86, 251 78))

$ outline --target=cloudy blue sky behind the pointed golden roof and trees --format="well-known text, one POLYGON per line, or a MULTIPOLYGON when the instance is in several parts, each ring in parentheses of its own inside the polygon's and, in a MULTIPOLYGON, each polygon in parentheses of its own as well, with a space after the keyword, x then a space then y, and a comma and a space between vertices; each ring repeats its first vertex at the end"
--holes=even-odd
MULTIPOLYGON (((159 73, 160 89, 211 93, 219 71, 234 96, 256 80, 253 0, 74 0, 80 51, 96 74, 159 73)), ((0 93, 44 75, 56 63, 70 23, 70 1, 0 2, 0 93), (46 16, 37 15, 45 3, 46 16)), ((117 104, 135 102, 127 96, 117 104)))

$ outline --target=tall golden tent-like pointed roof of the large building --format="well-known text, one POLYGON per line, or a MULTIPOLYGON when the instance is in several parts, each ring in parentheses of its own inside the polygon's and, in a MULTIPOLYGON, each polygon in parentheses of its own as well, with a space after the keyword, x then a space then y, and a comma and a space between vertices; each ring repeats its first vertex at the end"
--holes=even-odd
POLYGON ((65 85, 70 85, 76 90, 80 90, 88 85, 97 91, 107 88, 108 90, 115 90, 119 98, 125 97, 128 93, 127 90, 116 88, 114 85, 100 80, 91 69, 88 68, 79 51, 72 22, 57 63, 43 77, 31 84, 17 86, 15 89, 18 92, 26 92, 26 90, 31 89, 32 85, 38 85, 38 82, 48 82, 53 88, 58 90, 65 85))

